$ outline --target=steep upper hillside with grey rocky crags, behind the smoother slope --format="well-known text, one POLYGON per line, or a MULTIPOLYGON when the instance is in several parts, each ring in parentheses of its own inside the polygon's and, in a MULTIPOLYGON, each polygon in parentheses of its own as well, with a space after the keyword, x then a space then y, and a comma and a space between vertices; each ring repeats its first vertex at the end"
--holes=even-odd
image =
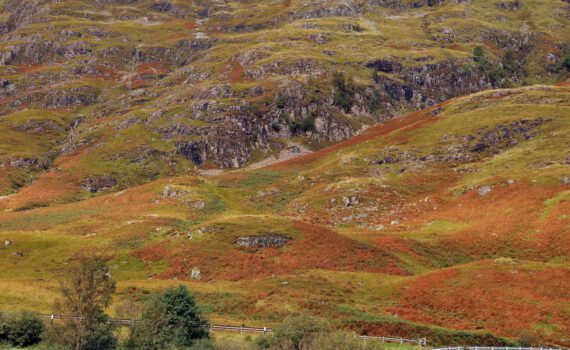
POLYGON ((3 0, 0 195, 27 192, 20 209, 70 203, 319 149, 456 96, 563 81, 569 6, 3 0))

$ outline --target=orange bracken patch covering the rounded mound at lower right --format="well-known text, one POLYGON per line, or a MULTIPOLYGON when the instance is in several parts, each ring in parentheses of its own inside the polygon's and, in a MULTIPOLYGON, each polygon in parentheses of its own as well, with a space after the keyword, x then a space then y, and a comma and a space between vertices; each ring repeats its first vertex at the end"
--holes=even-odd
POLYGON ((485 328, 502 336, 550 324, 543 337, 556 341, 570 331, 564 312, 568 281, 568 269, 482 261, 414 279, 402 290, 400 305, 388 311, 410 321, 485 328))

